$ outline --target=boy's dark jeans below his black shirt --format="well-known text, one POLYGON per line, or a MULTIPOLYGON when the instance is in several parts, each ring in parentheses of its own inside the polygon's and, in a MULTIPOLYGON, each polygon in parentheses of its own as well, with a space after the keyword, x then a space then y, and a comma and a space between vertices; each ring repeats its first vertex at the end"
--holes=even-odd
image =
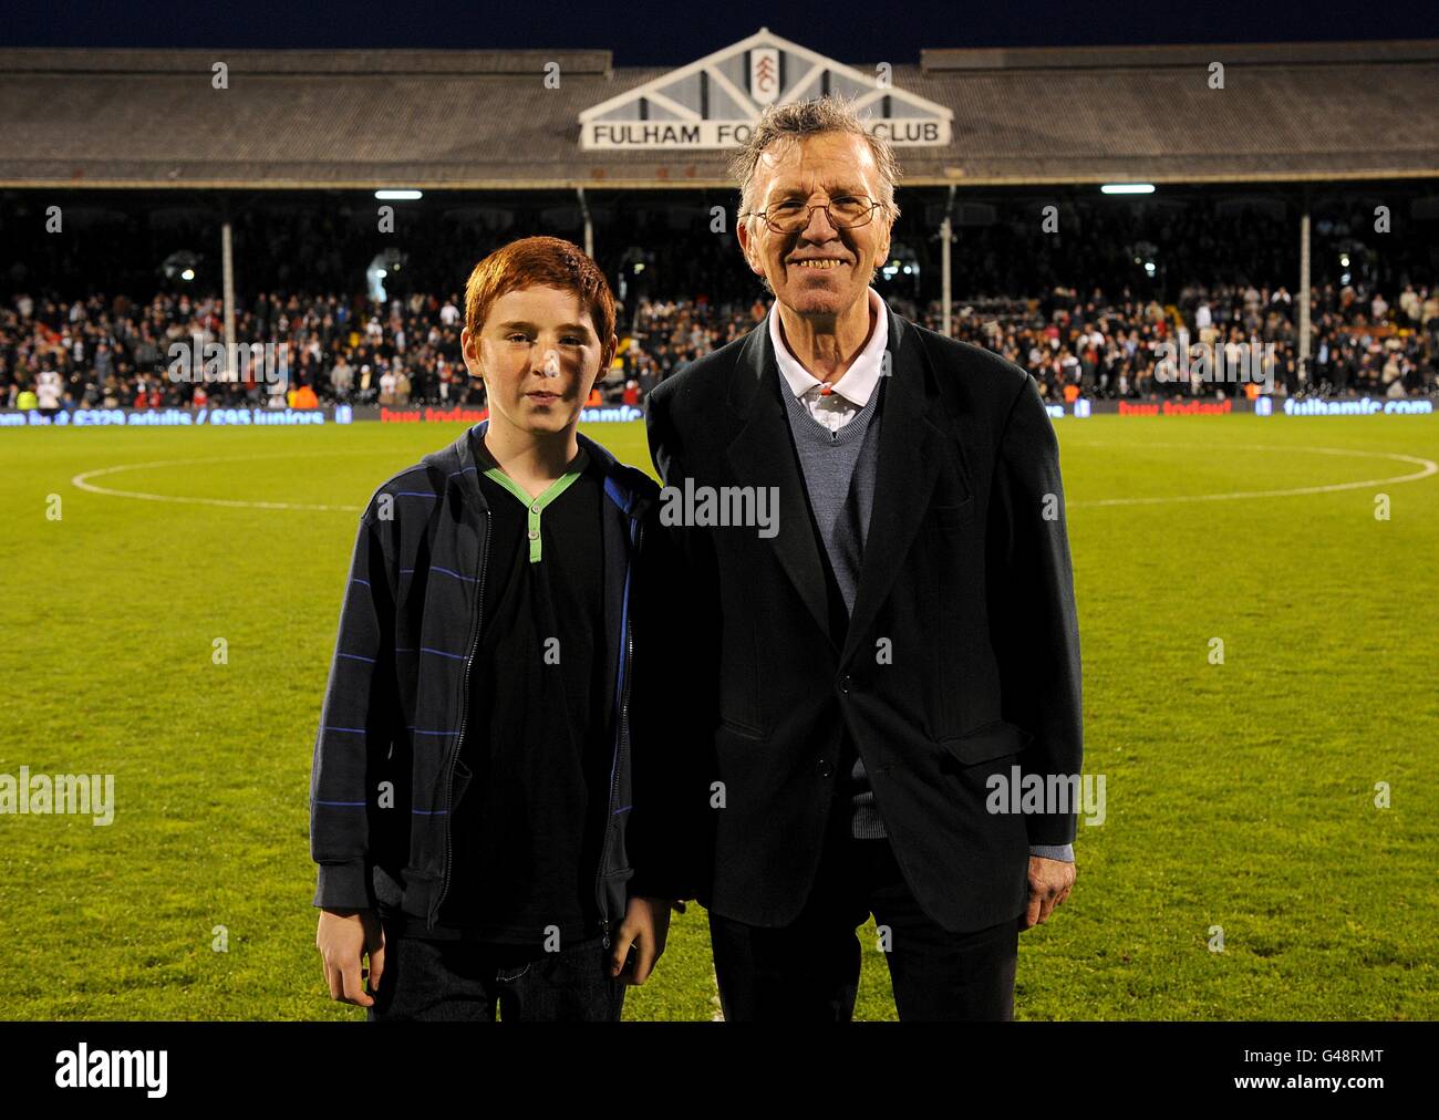
POLYGON ((599 939, 558 953, 478 941, 391 937, 370 1022, 435 1019, 619 1022, 625 982, 610 979, 610 950, 599 939))

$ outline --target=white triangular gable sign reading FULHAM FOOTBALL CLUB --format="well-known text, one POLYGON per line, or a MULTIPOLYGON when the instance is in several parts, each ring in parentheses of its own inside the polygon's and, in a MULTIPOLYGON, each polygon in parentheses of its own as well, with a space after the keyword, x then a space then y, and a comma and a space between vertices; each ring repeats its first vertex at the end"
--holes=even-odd
POLYGON ((954 114, 873 73, 806 50, 761 27, 724 50, 580 114, 580 147, 731 148, 750 137, 766 105, 835 94, 852 98, 875 135, 896 147, 950 143, 954 114))

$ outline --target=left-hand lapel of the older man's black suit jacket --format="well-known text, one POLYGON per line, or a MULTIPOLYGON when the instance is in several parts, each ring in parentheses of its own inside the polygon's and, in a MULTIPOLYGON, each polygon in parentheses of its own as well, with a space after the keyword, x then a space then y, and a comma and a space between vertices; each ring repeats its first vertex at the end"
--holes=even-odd
MULTIPOLYGON (((770 314, 774 314, 773 308, 770 314)), ((825 596, 825 569, 819 556, 819 541, 810 524, 809 501, 794 456, 790 422, 784 412, 784 400, 780 397, 786 386, 774 360, 768 321, 750 331, 730 389, 731 405, 741 413, 744 423, 727 449, 730 469, 741 485, 778 487, 778 533, 768 538, 768 544, 774 547, 780 567, 794 584, 814 623, 833 643, 825 596)))

